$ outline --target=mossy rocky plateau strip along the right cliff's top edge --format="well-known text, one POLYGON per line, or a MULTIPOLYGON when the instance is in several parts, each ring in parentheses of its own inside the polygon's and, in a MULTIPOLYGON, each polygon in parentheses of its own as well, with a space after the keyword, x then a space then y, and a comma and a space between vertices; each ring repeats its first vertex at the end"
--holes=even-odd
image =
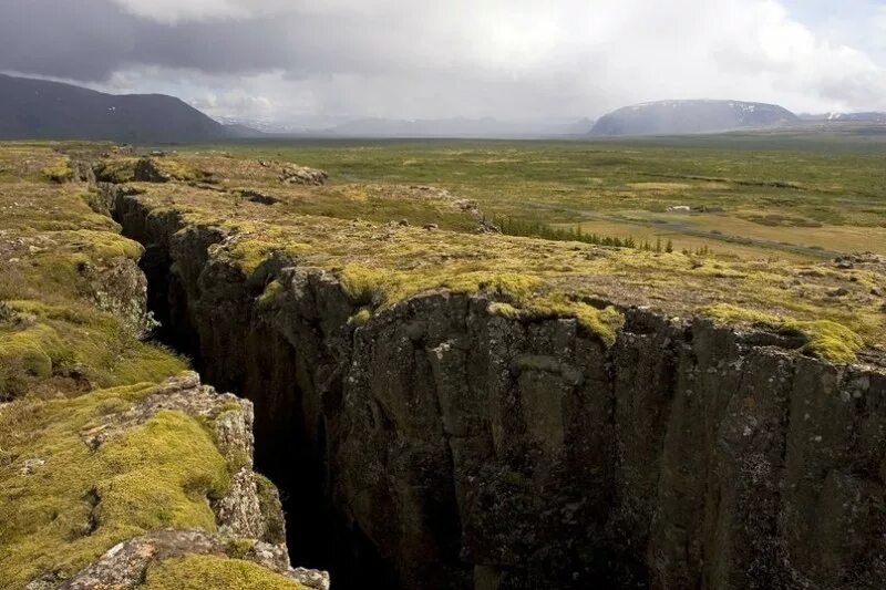
MULTIPOLYGON (((478 234, 477 218, 470 211, 459 214, 471 220, 461 226, 437 211, 431 220, 441 229, 425 230, 414 224, 401 226, 387 213, 379 216, 380 209, 370 198, 342 196, 341 190, 360 193, 350 184, 282 187, 274 167, 256 161, 218 154, 182 157, 194 167, 212 169, 218 186, 254 182, 279 203, 235 201, 219 190, 141 184, 142 203, 148 208, 186 210, 187 226, 223 228, 229 238, 214 247, 214 256, 228 257, 247 276, 275 252, 301 267, 332 271, 353 302, 370 313, 421 292, 484 291, 502 303, 493 309, 497 313, 525 320, 575 317, 611 343, 622 320, 615 308, 606 309, 606 301, 616 307, 650 306, 682 317, 730 303, 786 320, 831 321, 859 338, 861 348, 880 354, 886 351, 886 314, 876 294, 886 288, 882 269, 846 270, 795 259, 643 252, 478 234), (225 167, 231 170, 229 183, 223 176, 225 167), (317 215, 313 205, 305 205, 316 203, 328 203, 329 210, 317 215)), ((451 207, 460 201, 457 194, 440 200, 433 189, 372 186, 388 200, 404 204, 400 206, 419 203, 430 207, 429 214, 443 204, 451 207)), ((270 294, 266 292, 262 300, 270 294)), ((363 315, 352 323, 359 324, 363 315)), ((831 354, 825 345, 810 345, 806 352, 852 360, 831 354)))

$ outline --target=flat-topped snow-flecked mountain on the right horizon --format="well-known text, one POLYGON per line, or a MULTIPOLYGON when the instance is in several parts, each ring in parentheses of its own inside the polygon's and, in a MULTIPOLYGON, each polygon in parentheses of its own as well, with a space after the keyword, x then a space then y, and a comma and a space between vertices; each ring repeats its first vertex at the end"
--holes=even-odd
POLYGON ((792 112, 774 104, 740 101, 661 101, 619 108, 600 117, 597 136, 678 135, 797 123, 792 112))

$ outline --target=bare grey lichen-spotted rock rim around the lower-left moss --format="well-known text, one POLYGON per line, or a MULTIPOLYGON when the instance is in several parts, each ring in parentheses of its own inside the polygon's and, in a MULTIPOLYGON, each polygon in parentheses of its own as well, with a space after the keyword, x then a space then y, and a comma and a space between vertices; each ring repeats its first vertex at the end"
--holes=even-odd
POLYGON ((167 559, 204 555, 251 561, 303 587, 328 590, 326 572, 290 566, 277 490, 253 470, 251 402, 219 394, 203 385, 196 373, 185 373, 166 381, 125 411, 104 415, 100 424, 80 433, 80 437, 94 453, 105 442, 124 435, 162 411, 182 412, 203 421, 212 429, 228 465, 237 469, 227 494, 210 503, 217 531, 152 531, 120 542, 61 584, 50 573, 29 583, 28 590, 136 588, 152 566, 167 559))

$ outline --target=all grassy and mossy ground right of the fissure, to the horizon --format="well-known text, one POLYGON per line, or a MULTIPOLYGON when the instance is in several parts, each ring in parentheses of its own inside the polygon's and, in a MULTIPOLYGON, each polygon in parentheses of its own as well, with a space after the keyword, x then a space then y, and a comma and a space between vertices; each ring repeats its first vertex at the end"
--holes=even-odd
POLYGON ((805 136, 793 141, 796 151, 775 149, 766 136, 733 139, 741 147, 731 151, 691 139, 262 142, 175 156, 212 189, 133 186, 152 215, 177 211, 184 227, 226 231, 218 253, 256 280, 274 256, 336 273, 362 306, 356 322, 421 292, 485 291, 496 313, 576 317, 605 342, 615 338, 619 306, 776 331, 805 322, 791 325, 808 353, 849 361, 883 346, 882 266, 837 268, 832 259, 886 253, 886 173, 867 143, 834 139, 833 156, 805 136), (766 141, 770 152, 761 149, 766 141), (330 180, 282 184, 289 162, 322 165, 330 180), (673 204, 699 213, 664 213, 673 204), (587 220, 596 216, 606 217, 604 231, 587 220), (728 234, 730 224, 741 236, 728 234), (702 226, 724 229, 699 238, 702 226), (848 239, 855 234, 865 238, 848 239), (712 311, 723 303, 748 313, 712 311))

